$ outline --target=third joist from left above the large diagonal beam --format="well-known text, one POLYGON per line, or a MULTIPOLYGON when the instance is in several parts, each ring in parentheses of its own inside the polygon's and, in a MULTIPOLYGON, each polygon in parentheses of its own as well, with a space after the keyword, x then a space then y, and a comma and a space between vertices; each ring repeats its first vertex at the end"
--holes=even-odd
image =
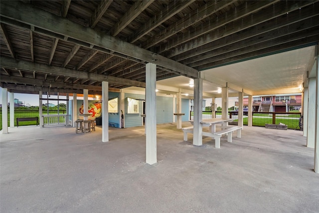
POLYGON ((116 36, 129 25, 141 12, 143 12, 154 0, 137 0, 131 8, 112 27, 110 34, 116 36))

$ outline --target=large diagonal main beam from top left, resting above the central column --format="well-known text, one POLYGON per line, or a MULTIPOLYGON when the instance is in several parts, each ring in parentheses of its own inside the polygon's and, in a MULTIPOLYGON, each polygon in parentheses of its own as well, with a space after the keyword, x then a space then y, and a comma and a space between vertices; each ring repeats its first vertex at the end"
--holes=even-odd
MULTIPOLYGON (((198 71, 173 61, 169 58, 158 55, 149 50, 125 42, 121 39, 96 31, 81 24, 72 22, 61 16, 54 15, 45 10, 39 9, 31 4, 23 4, 18 1, 0 1, 1 22, 8 24, 19 24, 19 27, 27 28, 27 24, 36 26, 38 33, 55 37, 68 36, 73 38, 70 42, 83 45, 83 42, 94 45, 100 49, 112 50, 135 59, 155 63, 165 67, 171 72, 179 75, 198 77, 198 71), (37 14, 33 16, 30 14, 37 14), (38 16, 45 17, 39 20, 38 16), (14 21, 13 21, 14 20, 14 21), (52 33, 54 32, 54 34, 52 33)), ((29 28, 28 28, 29 29, 29 28)))

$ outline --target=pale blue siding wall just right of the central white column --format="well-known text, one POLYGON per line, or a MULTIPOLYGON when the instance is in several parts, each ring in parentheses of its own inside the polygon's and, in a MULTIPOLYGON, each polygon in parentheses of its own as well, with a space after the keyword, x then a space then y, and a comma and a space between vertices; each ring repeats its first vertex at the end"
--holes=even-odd
POLYGON ((156 97, 156 122, 158 124, 173 122, 172 97, 156 97))

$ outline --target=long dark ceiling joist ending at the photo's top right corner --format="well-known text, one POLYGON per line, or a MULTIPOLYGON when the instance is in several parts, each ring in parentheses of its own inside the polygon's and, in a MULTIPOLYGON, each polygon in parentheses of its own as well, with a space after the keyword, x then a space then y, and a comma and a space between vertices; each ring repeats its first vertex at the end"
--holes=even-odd
MULTIPOLYGON (((298 1, 297 3, 295 1, 280 1, 274 6, 270 6, 261 10, 259 15, 254 15, 253 17, 252 15, 245 16, 242 19, 236 20, 226 26, 221 27, 219 30, 198 36, 196 39, 172 49, 169 54, 166 54, 166 57, 171 58, 183 52, 192 51, 194 48, 201 47, 202 45, 210 43, 214 40, 221 39, 239 31, 243 31, 244 29, 248 29, 263 22, 267 24, 266 21, 275 19, 281 15, 285 15, 287 12, 292 12, 296 9, 299 10, 299 8, 313 3, 314 1, 298 1)), ((251 36, 253 36, 253 34, 251 36)))

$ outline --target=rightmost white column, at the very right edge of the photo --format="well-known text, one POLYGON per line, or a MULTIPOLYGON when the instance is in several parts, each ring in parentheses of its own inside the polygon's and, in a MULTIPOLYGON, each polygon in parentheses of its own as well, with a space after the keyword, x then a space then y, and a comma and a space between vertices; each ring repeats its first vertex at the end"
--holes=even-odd
POLYGON ((319 173, 319 49, 318 45, 317 49, 317 60, 316 60, 316 91, 315 91, 315 99, 316 99, 316 116, 315 116, 315 165, 314 171, 315 173, 319 173))

